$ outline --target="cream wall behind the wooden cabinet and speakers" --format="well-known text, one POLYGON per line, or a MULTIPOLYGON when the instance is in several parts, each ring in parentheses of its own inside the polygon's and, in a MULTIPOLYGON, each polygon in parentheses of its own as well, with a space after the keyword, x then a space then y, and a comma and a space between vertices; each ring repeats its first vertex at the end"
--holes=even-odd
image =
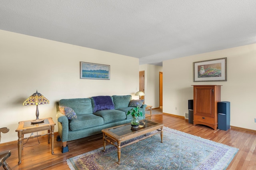
POLYGON ((184 116, 191 85, 222 85, 221 100, 230 101, 230 125, 256 130, 256 44, 212 51, 163 62, 163 112, 184 116), (193 82, 193 62, 227 57, 227 80, 193 82))

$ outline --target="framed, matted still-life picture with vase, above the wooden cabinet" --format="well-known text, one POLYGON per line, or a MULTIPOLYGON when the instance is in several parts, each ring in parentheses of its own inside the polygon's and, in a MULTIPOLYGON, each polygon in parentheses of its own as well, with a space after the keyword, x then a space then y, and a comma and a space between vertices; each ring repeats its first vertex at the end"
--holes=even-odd
POLYGON ((194 82, 227 81, 227 58, 197 61, 193 63, 194 82))

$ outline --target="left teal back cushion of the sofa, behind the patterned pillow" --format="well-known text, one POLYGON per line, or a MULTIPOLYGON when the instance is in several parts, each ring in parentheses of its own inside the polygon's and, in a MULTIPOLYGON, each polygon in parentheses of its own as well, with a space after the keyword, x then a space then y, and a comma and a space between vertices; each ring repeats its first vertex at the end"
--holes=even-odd
POLYGON ((59 105, 72 108, 76 115, 92 114, 92 101, 90 98, 61 99, 59 105))

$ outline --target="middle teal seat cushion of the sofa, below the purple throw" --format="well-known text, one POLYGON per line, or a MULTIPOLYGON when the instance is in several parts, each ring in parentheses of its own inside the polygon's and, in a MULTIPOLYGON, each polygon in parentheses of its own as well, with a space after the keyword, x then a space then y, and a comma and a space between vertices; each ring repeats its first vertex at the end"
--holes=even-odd
POLYGON ((126 113, 118 110, 103 110, 97 111, 93 114, 102 117, 104 120, 104 124, 126 119, 126 113))

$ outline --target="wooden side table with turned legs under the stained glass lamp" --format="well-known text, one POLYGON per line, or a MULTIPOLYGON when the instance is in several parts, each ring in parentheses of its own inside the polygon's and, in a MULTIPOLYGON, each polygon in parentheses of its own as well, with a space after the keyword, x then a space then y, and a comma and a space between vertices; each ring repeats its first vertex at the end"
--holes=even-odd
POLYGON ((50 135, 51 135, 52 154, 54 154, 53 148, 54 148, 54 126, 55 125, 56 124, 54 123, 54 121, 52 120, 51 117, 44 118, 44 122, 38 123, 38 124, 31 124, 30 121, 19 122, 18 128, 16 129, 16 132, 18 132, 18 155, 19 155, 18 164, 21 164, 21 151, 23 149, 23 140, 24 139, 48 135, 48 143, 50 143, 50 135), (43 130, 48 130, 48 133, 24 138, 24 134, 39 132, 39 131, 43 131, 43 130))

